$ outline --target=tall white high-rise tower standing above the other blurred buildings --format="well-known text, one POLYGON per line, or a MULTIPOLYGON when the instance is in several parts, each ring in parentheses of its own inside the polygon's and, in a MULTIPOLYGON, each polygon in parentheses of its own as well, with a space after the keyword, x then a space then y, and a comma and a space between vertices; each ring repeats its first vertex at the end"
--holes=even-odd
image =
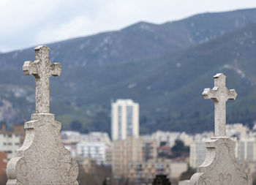
POLYGON ((111 105, 112 140, 139 136, 139 105, 132 99, 117 99, 111 105))

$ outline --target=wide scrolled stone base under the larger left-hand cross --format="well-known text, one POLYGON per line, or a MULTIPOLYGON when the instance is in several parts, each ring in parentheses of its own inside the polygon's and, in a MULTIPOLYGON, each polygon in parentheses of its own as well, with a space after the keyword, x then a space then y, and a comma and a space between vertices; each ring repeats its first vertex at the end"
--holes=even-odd
POLYGON ((7 185, 78 185, 78 165, 61 143, 60 129, 53 114, 31 116, 18 157, 7 164, 7 185))

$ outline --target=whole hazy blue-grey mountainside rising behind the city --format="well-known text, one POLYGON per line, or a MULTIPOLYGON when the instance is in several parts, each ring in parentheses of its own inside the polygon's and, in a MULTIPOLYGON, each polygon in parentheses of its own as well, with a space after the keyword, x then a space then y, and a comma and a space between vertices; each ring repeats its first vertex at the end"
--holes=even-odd
MULTIPOLYGON (((255 9, 206 13, 49 44, 51 61, 63 67, 60 77, 51 78, 51 110, 64 129, 75 121, 85 132, 110 132, 110 99, 132 98, 140 103, 141 132, 200 132, 212 129, 214 110, 201 93, 214 85, 215 73, 224 72, 227 87, 238 92, 227 103, 227 121, 251 124, 255 20, 255 9)), ((27 60, 34 61, 32 48, 0 54, 0 95, 13 110, 10 115, 3 108, 0 121, 16 124, 34 112, 34 77, 22 71, 27 60)))

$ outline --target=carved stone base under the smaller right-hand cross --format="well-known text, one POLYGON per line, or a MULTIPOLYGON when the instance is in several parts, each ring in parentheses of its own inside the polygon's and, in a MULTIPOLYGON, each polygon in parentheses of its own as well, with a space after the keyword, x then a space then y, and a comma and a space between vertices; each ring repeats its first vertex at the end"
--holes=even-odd
POLYGON ((190 185, 252 185, 252 179, 244 172, 235 156, 236 142, 229 137, 213 137, 206 142, 206 160, 190 185))

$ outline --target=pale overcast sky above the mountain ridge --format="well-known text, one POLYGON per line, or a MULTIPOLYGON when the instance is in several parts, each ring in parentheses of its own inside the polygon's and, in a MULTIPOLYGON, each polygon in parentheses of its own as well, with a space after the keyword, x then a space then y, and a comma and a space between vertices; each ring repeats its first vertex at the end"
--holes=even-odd
POLYGON ((256 0, 0 0, 0 51, 252 7, 256 0))

